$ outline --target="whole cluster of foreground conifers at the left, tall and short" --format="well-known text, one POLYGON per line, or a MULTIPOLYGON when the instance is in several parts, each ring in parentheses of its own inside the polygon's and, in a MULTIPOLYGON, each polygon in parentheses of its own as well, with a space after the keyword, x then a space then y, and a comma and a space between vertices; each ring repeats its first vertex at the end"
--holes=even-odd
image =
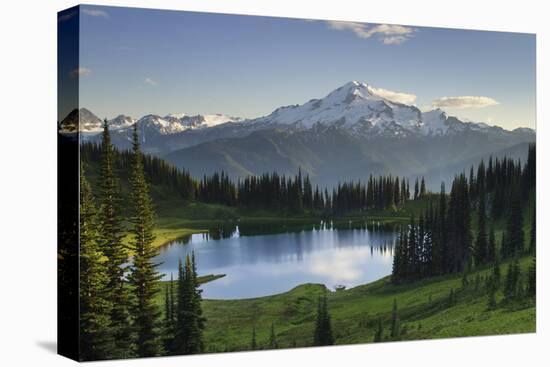
MULTIPOLYGON (((141 152, 137 125, 131 152, 118 156, 129 165, 126 217, 122 214, 117 154, 105 122, 95 194, 82 164, 80 172, 80 359, 153 357, 174 350, 200 352, 204 320, 194 259, 187 259, 185 273, 180 271, 178 284, 184 291, 173 302, 177 304, 174 319, 180 322, 185 317, 185 326, 176 329, 163 324, 155 302, 162 275, 157 271, 159 264, 153 262, 157 256, 154 210, 145 174, 145 162, 150 158, 141 152), (124 243, 127 234, 130 241, 124 243), (188 347, 191 343, 194 346, 188 347)), ((149 160, 150 168, 155 166, 153 162, 149 160)))

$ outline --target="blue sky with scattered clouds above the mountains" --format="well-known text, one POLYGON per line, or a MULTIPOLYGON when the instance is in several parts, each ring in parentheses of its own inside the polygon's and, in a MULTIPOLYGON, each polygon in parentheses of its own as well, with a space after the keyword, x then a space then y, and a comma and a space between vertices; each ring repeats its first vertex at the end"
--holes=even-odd
POLYGON ((535 127, 530 34, 96 6, 81 7, 80 30, 80 105, 102 118, 258 117, 357 80, 422 109, 535 127))

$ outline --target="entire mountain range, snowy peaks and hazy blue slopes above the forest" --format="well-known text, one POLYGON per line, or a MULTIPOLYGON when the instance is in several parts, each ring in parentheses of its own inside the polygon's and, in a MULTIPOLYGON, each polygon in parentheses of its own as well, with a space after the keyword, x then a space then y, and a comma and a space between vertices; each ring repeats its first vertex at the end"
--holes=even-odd
MULTIPOLYGON (((527 143, 535 141, 532 129, 464 122, 440 109, 422 112, 378 91, 353 81, 324 98, 256 119, 171 114, 135 120, 120 115, 109 125, 114 144, 125 149, 137 122, 145 151, 196 177, 220 170, 234 178, 273 170, 294 174, 301 168, 327 186, 390 173, 425 175, 435 189, 480 157, 524 158, 527 143)), ((61 129, 76 131, 78 115, 83 136, 99 139, 102 122, 84 108, 63 120, 61 129)))

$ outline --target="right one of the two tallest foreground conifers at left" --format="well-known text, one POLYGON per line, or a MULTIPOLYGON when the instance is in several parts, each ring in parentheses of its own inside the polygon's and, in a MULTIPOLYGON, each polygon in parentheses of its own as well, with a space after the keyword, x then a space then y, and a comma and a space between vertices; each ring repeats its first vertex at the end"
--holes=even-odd
POLYGON ((134 328, 136 330, 136 352, 139 357, 154 357, 162 353, 159 337, 160 311, 155 303, 158 292, 157 282, 162 275, 157 271, 159 264, 154 264, 157 249, 153 246, 154 212, 149 187, 143 171, 137 124, 133 132, 133 163, 131 183, 131 249, 134 253, 133 263, 128 276, 132 285, 135 305, 132 308, 134 328))

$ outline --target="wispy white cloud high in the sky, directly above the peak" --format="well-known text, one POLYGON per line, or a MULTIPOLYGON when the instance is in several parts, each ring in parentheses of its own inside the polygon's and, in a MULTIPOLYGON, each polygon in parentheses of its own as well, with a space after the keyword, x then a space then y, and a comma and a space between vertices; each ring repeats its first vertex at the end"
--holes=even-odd
POLYGON ((415 32, 414 28, 397 24, 378 24, 374 27, 369 27, 368 24, 358 22, 328 20, 327 23, 332 29, 351 31, 359 38, 366 39, 372 36, 379 36, 379 40, 385 45, 399 45, 412 37, 412 34, 415 32))

